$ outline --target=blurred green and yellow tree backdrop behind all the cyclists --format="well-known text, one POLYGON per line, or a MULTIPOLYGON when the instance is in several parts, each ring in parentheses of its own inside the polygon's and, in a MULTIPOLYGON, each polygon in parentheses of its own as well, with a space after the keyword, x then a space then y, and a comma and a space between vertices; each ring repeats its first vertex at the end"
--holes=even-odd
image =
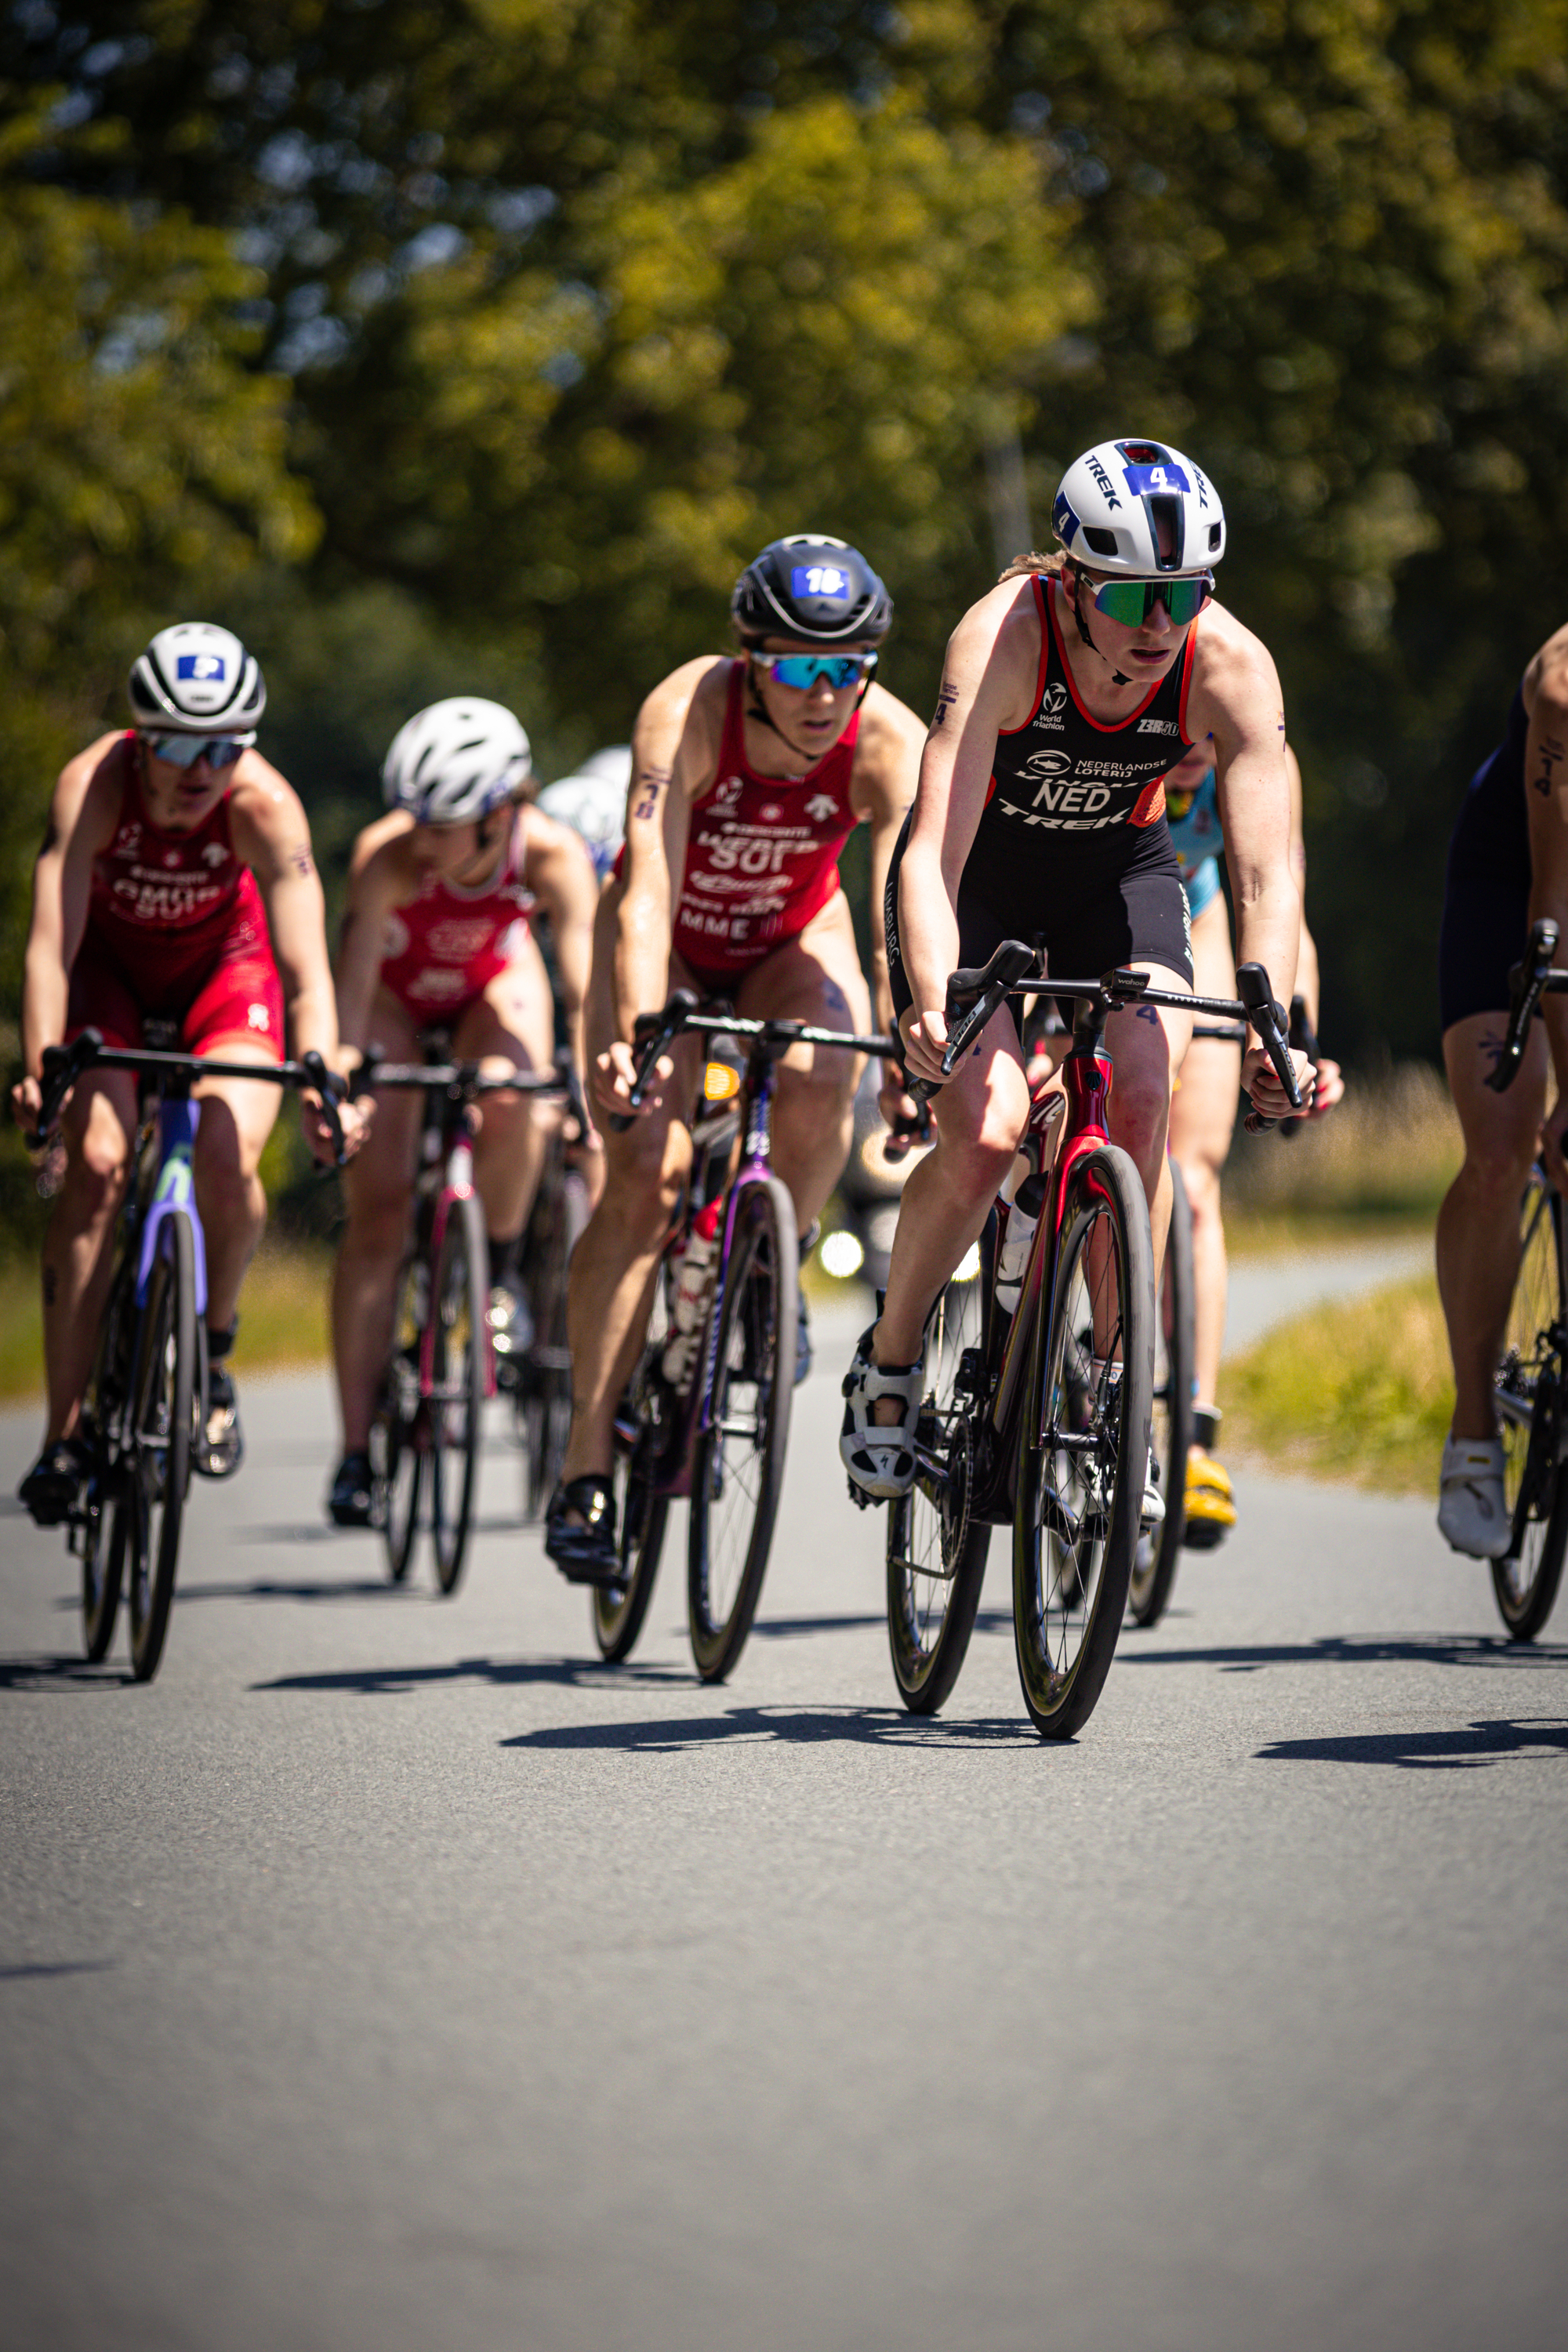
POLYGON ((559 774, 783 529, 886 680, 1105 433, 1201 456, 1307 774, 1326 1033, 1568 616, 1568 0, 7 0, 0 983, 54 767, 242 628, 322 858, 421 701, 559 774))

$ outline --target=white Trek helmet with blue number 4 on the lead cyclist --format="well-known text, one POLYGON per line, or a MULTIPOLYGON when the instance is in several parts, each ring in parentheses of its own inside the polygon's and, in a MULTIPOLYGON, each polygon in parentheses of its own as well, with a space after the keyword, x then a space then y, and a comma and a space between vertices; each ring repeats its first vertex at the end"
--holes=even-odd
POLYGON ((1098 442, 1063 475, 1051 529, 1095 572, 1208 572, 1225 555, 1225 508, 1208 475, 1164 442, 1098 442), (1166 548, 1161 555, 1161 524, 1166 548))

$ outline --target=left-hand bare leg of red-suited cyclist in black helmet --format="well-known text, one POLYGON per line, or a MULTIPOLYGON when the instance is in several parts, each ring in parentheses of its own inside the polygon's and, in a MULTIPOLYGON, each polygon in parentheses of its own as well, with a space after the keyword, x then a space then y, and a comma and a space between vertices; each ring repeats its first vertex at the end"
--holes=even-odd
MULTIPOLYGON (((611 997, 618 898, 614 884, 599 901, 595 924, 592 983, 588 990, 588 1058, 604 1054, 616 1033, 611 997)), ((679 955, 670 955, 670 988, 696 988, 679 955)), ((658 1011, 656 1004, 649 1011, 658 1011)), ((588 1218, 567 1275, 567 1345, 571 1348, 571 1437, 562 1484, 574 1477, 609 1477, 614 1463, 616 1399, 642 1350, 649 1296, 670 1216, 691 1167, 686 1110, 696 1089, 698 1040, 682 1037, 670 1049, 675 1075, 663 1082, 663 1103, 616 1134, 604 1131, 604 1192, 588 1218)), ((574 1519, 578 1515, 574 1512, 574 1519)))

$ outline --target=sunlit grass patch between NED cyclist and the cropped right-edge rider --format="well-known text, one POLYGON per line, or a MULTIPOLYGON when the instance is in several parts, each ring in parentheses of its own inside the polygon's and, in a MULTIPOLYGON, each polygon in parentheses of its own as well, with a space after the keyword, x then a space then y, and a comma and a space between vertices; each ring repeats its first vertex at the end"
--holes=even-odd
POLYGON ((1225 1451, 1378 1494, 1436 1494, 1453 1374, 1418 1275, 1267 1331, 1225 1367, 1225 1451))

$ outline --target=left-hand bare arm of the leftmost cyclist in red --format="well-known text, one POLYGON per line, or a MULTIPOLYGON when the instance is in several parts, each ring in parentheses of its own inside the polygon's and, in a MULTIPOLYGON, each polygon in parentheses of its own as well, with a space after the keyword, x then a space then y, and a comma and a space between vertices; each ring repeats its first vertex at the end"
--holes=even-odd
POLYGON ((38 1091, 42 1051, 66 1037, 71 967, 87 934, 92 861, 108 849, 120 823, 125 771, 108 753, 122 741, 122 734, 99 736, 68 760, 49 800, 45 842, 33 868, 33 920, 21 985, 26 1077, 12 1087, 12 1110, 28 1127, 42 1101, 38 1091))

